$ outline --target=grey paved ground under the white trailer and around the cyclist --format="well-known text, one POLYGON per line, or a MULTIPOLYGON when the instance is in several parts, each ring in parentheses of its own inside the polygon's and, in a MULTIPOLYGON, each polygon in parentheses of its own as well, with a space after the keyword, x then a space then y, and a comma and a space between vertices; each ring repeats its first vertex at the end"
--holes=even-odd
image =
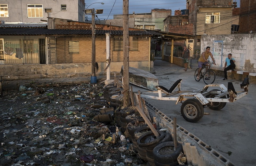
MULTIPOLYGON (((159 78, 159 85, 169 89, 174 82, 182 79, 181 90, 198 90, 206 84, 203 80, 196 82, 194 72, 197 68, 196 61, 192 61, 192 69, 184 71, 183 67, 170 64, 162 60, 154 61, 155 75, 159 78)), ((238 80, 222 80, 217 76, 214 83, 224 84, 232 82, 236 91, 242 91, 238 80)), ((172 119, 177 118, 177 124, 199 137, 203 142, 220 152, 236 166, 256 165, 256 84, 250 84, 249 93, 234 103, 227 105, 219 111, 205 108, 203 118, 191 123, 184 120, 180 113, 181 103, 175 105, 175 101, 159 101, 146 99, 149 103, 159 109, 172 119), (223 152, 221 152, 223 151, 223 152), (224 152, 232 152, 229 156, 224 152)), ((137 87, 138 88, 138 87, 137 87)), ((135 91, 135 87, 133 90, 135 91)), ((138 88, 139 89, 139 88, 138 88)), ((142 91, 142 90, 140 90, 142 91)))

